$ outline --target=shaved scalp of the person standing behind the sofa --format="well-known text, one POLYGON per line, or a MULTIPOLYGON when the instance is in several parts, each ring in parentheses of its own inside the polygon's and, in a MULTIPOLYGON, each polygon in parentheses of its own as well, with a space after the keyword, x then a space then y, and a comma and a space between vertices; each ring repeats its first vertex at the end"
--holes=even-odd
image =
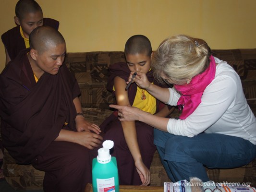
POLYGON ((19 0, 15 7, 15 14, 19 19, 24 19, 27 13, 35 13, 43 11, 35 0, 19 0))

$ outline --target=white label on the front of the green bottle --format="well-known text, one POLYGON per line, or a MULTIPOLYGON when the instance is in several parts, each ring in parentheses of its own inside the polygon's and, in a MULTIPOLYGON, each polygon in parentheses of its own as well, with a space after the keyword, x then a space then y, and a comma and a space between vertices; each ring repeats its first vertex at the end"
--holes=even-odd
POLYGON ((115 178, 96 179, 98 192, 115 192, 115 178))

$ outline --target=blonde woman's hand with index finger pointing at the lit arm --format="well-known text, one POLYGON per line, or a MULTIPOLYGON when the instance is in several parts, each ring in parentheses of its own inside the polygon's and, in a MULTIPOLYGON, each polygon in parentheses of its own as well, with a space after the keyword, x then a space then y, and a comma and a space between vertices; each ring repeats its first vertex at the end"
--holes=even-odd
POLYGON ((120 121, 139 120, 140 113, 146 113, 139 108, 130 106, 110 105, 110 108, 118 109, 118 119, 120 121))

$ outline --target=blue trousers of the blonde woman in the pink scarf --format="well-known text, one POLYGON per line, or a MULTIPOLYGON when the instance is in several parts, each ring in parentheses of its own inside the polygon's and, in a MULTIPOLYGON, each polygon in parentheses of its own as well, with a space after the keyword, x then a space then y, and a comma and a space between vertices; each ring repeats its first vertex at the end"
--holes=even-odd
POLYGON ((205 167, 236 168, 256 158, 256 145, 240 137, 217 133, 186 137, 154 129, 154 144, 172 182, 189 177, 206 182, 209 178, 205 167))

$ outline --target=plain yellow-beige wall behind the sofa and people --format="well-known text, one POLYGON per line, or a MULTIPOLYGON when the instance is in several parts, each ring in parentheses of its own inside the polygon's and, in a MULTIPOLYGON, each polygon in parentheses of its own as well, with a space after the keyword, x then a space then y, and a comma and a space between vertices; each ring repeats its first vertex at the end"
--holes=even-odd
MULTIPOLYGON (((16 0, 0 0, 0 34, 15 26, 16 0)), ((166 37, 203 38, 213 49, 256 48, 256 0, 37 0, 60 21, 68 52, 123 50, 135 34, 156 49, 166 37)), ((0 71, 5 54, 0 44, 0 71)))

